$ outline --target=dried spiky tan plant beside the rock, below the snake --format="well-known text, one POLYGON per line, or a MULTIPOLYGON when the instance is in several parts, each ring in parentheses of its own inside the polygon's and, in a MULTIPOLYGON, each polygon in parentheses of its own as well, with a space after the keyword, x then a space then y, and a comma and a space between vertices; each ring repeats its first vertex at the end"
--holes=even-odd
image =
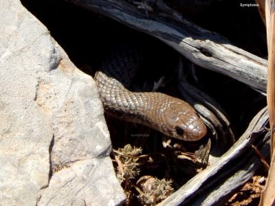
POLYGON ((139 193, 136 198, 142 205, 156 205, 173 193, 172 181, 159 180, 153 176, 142 176, 137 181, 140 174, 140 163, 137 161, 144 157, 141 148, 127 144, 113 152, 117 163, 116 174, 127 197, 126 205, 131 205, 136 191, 139 193), (132 191, 133 188, 136 191, 132 191))

